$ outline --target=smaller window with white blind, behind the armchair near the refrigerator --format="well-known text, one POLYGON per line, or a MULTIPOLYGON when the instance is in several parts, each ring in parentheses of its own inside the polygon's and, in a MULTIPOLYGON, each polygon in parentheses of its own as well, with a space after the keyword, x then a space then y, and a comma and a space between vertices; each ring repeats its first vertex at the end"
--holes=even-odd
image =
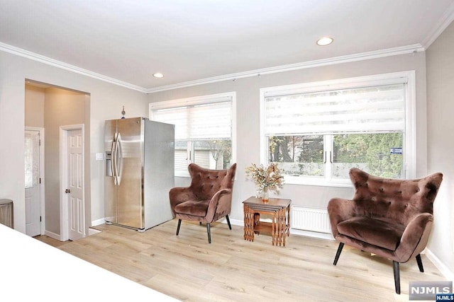
POLYGON ((175 175, 187 165, 226 169, 233 163, 235 93, 150 103, 150 120, 175 124, 175 175))

